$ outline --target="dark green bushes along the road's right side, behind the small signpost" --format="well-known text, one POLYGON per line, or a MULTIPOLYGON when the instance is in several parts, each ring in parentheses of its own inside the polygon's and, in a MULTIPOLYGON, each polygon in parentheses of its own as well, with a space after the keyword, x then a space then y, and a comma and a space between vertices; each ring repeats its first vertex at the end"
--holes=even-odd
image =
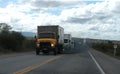
MULTIPOLYGON (((108 41, 107 43, 104 43, 104 42, 93 43, 92 47, 110 56, 114 56, 114 42, 112 41, 108 41)), ((115 57, 120 59, 120 44, 117 44, 115 57)))

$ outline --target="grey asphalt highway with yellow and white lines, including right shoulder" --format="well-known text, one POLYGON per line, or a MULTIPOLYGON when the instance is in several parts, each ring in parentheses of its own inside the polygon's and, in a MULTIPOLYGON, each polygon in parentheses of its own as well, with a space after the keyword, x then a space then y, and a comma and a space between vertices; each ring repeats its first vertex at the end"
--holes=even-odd
POLYGON ((77 44, 70 53, 35 52, 0 56, 0 74, 120 74, 120 60, 77 44))

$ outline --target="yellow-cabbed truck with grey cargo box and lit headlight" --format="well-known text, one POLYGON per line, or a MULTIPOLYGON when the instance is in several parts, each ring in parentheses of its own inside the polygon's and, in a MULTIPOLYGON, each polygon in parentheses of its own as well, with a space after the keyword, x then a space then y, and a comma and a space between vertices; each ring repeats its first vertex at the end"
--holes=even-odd
POLYGON ((36 55, 63 52, 64 28, 59 25, 37 26, 36 55))

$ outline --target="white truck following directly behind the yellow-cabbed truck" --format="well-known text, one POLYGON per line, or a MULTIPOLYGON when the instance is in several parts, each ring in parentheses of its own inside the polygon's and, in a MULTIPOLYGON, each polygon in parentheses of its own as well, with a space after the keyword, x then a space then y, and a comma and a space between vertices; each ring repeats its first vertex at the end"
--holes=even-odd
POLYGON ((64 34, 64 48, 65 50, 71 50, 71 34, 64 34))

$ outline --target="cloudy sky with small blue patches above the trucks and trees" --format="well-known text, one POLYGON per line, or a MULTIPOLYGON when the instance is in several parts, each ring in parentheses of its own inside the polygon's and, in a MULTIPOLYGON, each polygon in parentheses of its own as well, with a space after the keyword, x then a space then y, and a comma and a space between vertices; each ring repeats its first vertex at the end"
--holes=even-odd
POLYGON ((35 33, 59 25, 73 37, 120 40, 120 0, 0 0, 0 23, 35 33))

